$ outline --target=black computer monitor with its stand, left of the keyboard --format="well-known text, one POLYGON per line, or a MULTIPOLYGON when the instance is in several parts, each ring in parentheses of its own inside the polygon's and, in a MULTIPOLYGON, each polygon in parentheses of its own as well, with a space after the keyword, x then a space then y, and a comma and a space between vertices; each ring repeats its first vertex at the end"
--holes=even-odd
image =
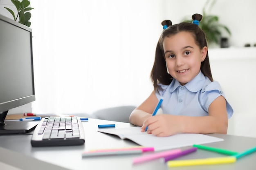
POLYGON ((33 101, 32 29, 0 15, 0 134, 33 130, 36 121, 5 120, 8 110, 33 101))

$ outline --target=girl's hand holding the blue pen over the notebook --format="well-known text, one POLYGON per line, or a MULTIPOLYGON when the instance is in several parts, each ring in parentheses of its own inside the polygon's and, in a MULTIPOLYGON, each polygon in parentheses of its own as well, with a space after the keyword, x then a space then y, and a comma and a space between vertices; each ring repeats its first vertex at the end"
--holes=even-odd
POLYGON ((178 117, 174 115, 161 114, 149 117, 141 126, 141 132, 145 132, 147 126, 147 133, 158 137, 171 136, 182 132, 182 124, 178 117))

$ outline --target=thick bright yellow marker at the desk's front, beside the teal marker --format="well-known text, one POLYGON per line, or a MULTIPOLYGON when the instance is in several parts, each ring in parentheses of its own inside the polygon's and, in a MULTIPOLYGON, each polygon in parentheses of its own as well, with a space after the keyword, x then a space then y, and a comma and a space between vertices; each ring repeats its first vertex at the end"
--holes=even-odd
POLYGON ((205 158, 205 159, 168 161, 167 166, 168 167, 195 166, 195 165, 211 165, 211 164, 234 163, 234 162, 236 162, 236 157, 216 157, 216 158, 205 158))

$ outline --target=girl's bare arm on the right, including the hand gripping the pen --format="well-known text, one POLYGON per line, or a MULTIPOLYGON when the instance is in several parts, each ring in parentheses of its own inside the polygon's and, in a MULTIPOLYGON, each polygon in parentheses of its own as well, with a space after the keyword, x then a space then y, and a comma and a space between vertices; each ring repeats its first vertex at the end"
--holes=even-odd
MULTIPOLYGON (((157 101, 154 105, 156 105, 156 103, 157 101)), ((222 96, 217 97, 209 106, 208 111, 209 116, 203 117, 175 116, 166 114, 146 117, 144 118, 146 121, 144 121, 141 131, 144 132, 146 126, 148 126, 148 133, 152 133, 160 137, 170 136, 177 133, 226 134, 228 118, 225 98, 222 96)))

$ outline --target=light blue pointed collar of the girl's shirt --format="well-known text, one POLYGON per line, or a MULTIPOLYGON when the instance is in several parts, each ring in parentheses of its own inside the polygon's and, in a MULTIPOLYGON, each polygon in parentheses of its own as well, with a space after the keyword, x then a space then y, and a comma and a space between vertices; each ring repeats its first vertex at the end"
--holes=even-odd
MULTIPOLYGON (((205 80, 206 80, 206 77, 200 71, 198 75, 195 76, 195 78, 193 78, 190 82, 188 82, 184 86, 191 92, 198 92, 202 89, 202 86, 204 85, 205 80)), ((170 88, 171 93, 173 93, 173 91, 175 91, 175 89, 178 88, 179 86, 182 86, 180 82, 178 82, 176 79, 173 79, 170 85, 171 85, 171 88, 170 88)))

